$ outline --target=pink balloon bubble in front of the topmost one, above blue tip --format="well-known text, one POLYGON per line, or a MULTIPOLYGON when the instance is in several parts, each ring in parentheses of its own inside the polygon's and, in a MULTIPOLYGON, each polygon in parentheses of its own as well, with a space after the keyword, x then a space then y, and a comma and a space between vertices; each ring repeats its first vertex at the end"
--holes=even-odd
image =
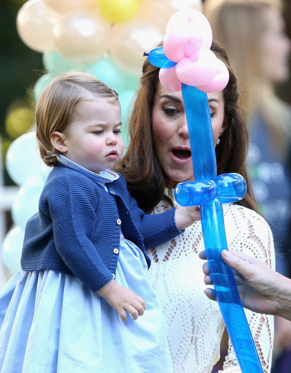
POLYGON ((163 43, 164 53, 174 62, 189 57, 201 46, 201 32, 191 23, 181 23, 175 30, 167 32, 163 43))

